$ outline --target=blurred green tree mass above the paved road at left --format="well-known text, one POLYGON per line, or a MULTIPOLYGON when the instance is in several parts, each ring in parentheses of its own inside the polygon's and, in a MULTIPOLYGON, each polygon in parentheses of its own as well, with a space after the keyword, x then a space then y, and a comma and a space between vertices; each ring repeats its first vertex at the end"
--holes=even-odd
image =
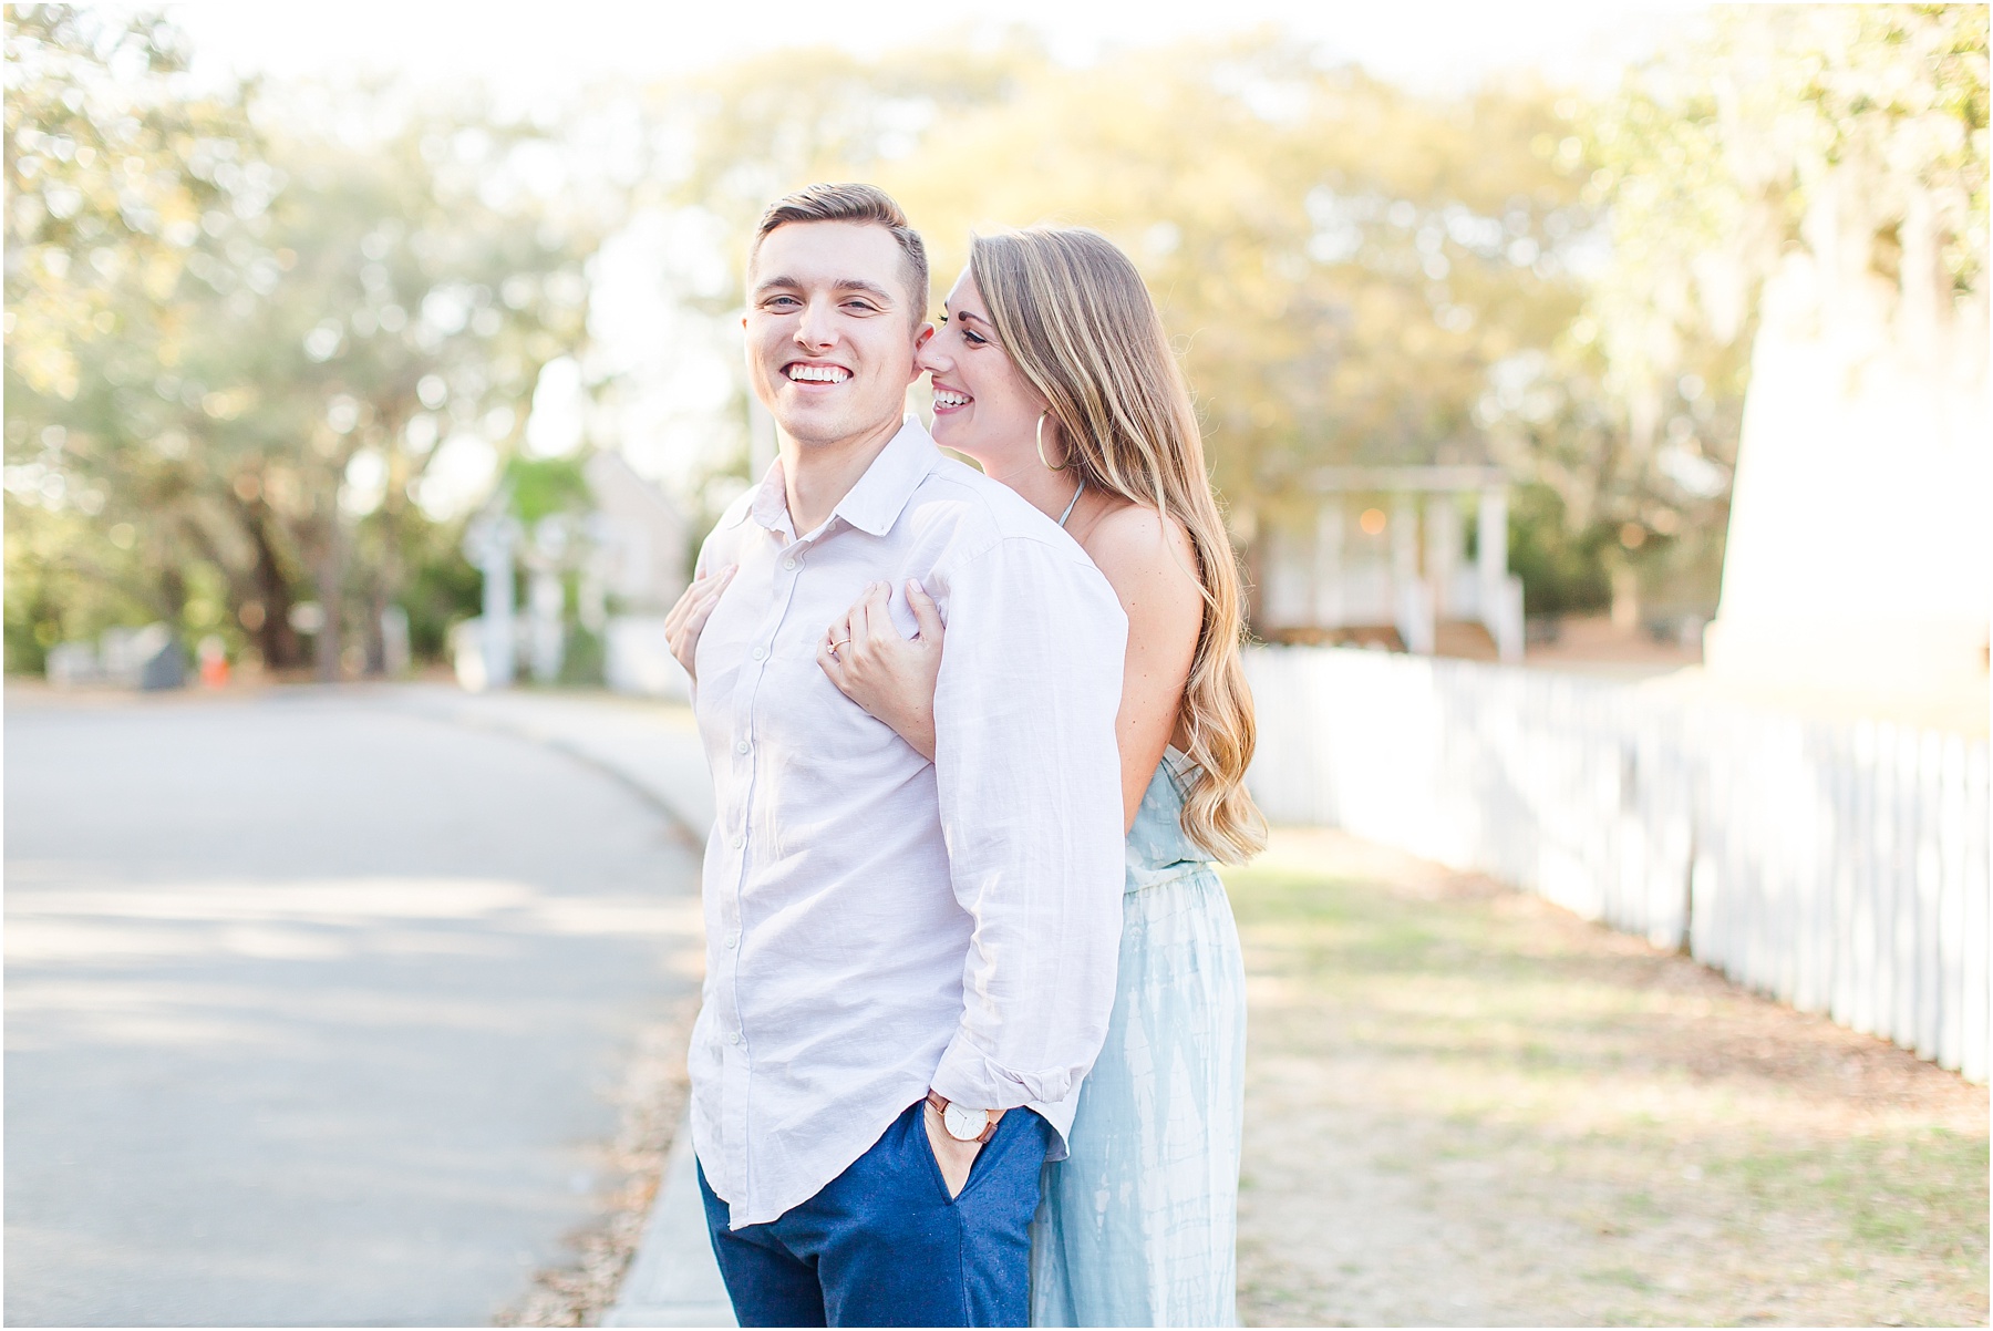
POLYGON ((460 564, 419 504, 436 458, 508 450, 540 367, 584 339, 600 213, 548 132, 480 104, 349 90, 345 122, 385 130, 343 139, 309 90, 189 102, 161 22, 8 22, 32 56, 8 169, 42 181, 8 213, 10 667, 134 618, 299 666, 301 600, 329 612, 321 673, 349 628, 379 667, 411 578, 462 582, 423 574, 460 564), (151 211, 118 193, 136 155, 76 145, 151 143, 134 104, 165 108, 151 211), (116 199, 116 225, 78 199, 116 199))

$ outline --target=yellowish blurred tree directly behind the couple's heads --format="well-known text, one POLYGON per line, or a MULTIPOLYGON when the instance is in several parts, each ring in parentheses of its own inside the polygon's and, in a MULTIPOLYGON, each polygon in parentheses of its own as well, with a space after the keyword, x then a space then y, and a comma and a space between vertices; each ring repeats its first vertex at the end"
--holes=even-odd
POLYGON ((1278 34, 1090 70, 1024 38, 961 50, 949 78, 927 52, 715 72, 680 199, 745 237, 785 189, 877 179, 943 287, 973 227, 1100 227, 1180 341, 1248 550, 1311 504, 1313 466, 1481 460, 1489 367, 1549 347, 1582 299, 1565 251, 1590 211, 1582 175, 1533 151, 1568 133, 1541 90, 1417 98, 1278 34))

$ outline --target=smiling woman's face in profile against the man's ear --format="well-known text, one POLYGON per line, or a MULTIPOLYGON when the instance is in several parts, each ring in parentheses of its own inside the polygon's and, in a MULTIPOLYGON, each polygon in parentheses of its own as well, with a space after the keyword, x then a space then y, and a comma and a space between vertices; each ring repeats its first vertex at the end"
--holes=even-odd
POLYGON ((1030 456, 1046 402, 996 341, 969 269, 955 279, 919 365, 933 377, 937 444, 969 454, 983 470, 1030 456))

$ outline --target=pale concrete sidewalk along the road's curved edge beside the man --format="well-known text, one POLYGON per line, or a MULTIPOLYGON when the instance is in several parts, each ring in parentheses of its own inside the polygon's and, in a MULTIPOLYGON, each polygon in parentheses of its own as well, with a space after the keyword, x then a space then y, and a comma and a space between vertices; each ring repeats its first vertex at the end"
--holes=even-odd
MULTIPOLYGON (((460 693, 413 685, 399 701, 442 721, 558 749, 616 777, 656 805, 700 849, 713 825, 706 751, 686 707, 614 695, 460 693)), ((706 1205, 692 1156, 692 1124, 680 1120, 644 1237, 624 1273, 604 1327, 733 1327, 706 1231, 706 1205)))

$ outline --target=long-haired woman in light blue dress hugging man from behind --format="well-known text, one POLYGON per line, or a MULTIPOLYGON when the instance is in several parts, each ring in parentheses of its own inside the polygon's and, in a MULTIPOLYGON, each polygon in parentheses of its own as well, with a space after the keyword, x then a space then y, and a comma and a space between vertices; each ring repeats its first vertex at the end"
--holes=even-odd
MULTIPOLYGON (((935 440, 975 458, 1086 550, 1128 612, 1118 715, 1128 877, 1114 1016, 1046 1166, 1032 1323, 1234 1325, 1246 978, 1206 861, 1260 849, 1246 795, 1252 697, 1240 582, 1162 321, 1106 237, 977 237, 921 353, 935 440)), ((853 701, 935 753, 945 628, 891 628, 871 588, 817 660, 853 701)))

